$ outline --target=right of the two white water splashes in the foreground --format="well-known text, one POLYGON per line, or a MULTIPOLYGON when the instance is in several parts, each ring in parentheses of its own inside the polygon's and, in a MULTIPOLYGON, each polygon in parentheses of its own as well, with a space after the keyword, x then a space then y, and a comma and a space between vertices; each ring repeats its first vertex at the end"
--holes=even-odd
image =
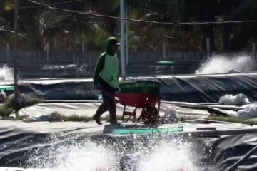
POLYGON ((143 155, 138 164, 139 171, 200 171, 194 165, 190 145, 174 142, 162 143, 151 154, 143 155))

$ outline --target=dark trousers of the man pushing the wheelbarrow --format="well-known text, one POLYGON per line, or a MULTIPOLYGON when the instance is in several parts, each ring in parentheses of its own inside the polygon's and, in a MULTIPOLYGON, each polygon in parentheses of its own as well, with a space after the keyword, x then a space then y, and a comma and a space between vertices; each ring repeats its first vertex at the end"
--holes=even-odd
POLYGON ((116 89, 111 87, 102 78, 99 78, 99 85, 101 88, 103 103, 101 103, 99 108, 96 110, 96 116, 100 118, 101 115, 103 115, 108 110, 110 113, 111 123, 116 123, 116 103, 114 101, 116 89))

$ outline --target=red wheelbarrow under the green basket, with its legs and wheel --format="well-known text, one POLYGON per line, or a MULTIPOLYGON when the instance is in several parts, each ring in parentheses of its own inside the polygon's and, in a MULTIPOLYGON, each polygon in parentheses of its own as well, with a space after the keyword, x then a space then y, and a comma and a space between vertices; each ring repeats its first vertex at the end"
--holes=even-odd
POLYGON ((124 105, 124 115, 128 115, 129 118, 133 116, 136 120, 136 110, 141 108, 142 112, 137 122, 143 121, 146 125, 154 125, 159 118, 159 109, 161 98, 158 95, 149 95, 144 93, 116 93, 116 101, 124 105), (126 111, 126 106, 135 107, 132 112, 126 111))

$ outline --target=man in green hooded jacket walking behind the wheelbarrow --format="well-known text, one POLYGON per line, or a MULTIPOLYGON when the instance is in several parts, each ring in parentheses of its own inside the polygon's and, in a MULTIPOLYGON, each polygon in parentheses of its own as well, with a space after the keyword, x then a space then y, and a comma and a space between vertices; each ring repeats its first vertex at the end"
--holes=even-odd
POLYGON ((119 43, 116 38, 110 37, 106 42, 106 52, 99 56, 94 71, 94 86, 100 87, 103 103, 93 116, 97 124, 101 125, 100 117, 107 110, 110 113, 111 124, 117 124, 115 92, 119 90, 119 63, 116 51, 119 43))

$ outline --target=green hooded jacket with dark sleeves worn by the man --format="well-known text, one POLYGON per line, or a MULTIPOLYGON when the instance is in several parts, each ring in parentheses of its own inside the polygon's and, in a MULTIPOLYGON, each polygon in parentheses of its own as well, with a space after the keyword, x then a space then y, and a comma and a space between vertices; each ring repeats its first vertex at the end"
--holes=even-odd
POLYGON ((99 77, 113 88, 119 89, 119 61, 116 53, 111 52, 111 45, 116 38, 110 37, 106 42, 106 52, 99 56, 94 71, 94 85, 99 85, 99 77))

